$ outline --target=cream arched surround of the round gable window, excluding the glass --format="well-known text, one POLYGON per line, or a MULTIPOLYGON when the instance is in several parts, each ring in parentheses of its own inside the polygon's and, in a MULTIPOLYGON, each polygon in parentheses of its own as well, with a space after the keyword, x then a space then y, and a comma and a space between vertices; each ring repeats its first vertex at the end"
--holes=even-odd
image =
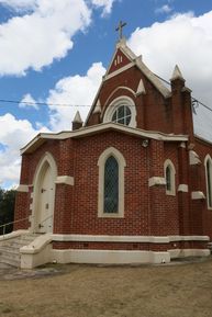
POLYGON ((136 127, 136 106, 135 106, 134 101, 127 95, 118 97, 109 104, 104 113, 103 122, 112 122, 114 112, 121 105, 126 105, 131 110, 131 121, 127 126, 136 127))

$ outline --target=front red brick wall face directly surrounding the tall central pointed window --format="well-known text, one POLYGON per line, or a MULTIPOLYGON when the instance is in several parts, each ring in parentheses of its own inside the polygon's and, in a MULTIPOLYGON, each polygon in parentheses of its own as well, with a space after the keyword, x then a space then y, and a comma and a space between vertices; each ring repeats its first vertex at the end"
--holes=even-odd
POLYGON ((76 147, 72 234, 148 234, 148 157, 141 139, 110 132, 79 139, 76 147), (98 159, 115 147, 126 160, 124 218, 98 218, 98 159))

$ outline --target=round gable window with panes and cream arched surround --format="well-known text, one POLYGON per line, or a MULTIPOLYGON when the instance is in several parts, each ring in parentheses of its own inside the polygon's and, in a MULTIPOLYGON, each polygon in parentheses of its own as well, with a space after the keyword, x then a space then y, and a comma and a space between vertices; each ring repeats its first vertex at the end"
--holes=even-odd
POLYGON ((113 100, 104 113, 103 122, 114 122, 136 127, 136 109, 133 100, 129 97, 121 97, 113 100))

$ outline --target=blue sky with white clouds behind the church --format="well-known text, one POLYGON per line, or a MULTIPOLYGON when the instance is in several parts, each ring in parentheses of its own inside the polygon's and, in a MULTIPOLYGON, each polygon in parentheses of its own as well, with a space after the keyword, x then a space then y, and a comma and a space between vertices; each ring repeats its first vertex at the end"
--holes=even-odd
MULTIPOLYGON (((0 101, 0 186, 19 183, 19 149, 35 134, 70 128, 77 109, 85 120, 120 20, 154 72, 169 80, 178 64, 212 107, 212 0, 0 0, 0 100, 47 103, 0 101)), ((203 134, 205 117, 194 117, 203 134)))

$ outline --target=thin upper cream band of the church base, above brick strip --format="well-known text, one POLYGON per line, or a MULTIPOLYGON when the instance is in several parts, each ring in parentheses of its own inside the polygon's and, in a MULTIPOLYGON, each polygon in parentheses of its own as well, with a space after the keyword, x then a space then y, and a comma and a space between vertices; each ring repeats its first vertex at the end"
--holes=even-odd
POLYGON ((172 241, 209 241, 208 236, 91 236, 91 235, 52 235, 53 241, 68 242, 149 242, 169 244, 172 241))

